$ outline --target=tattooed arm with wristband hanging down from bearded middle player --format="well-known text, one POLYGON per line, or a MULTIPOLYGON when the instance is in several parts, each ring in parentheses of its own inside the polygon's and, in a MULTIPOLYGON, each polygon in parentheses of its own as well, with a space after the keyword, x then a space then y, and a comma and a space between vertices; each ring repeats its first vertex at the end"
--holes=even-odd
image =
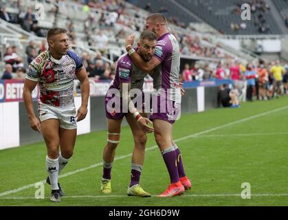
POLYGON ((154 131, 153 127, 149 126, 148 123, 152 124, 151 120, 142 117, 138 110, 136 109, 131 97, 129 96, 129 91, 131 89, 131 83, 120 83, 120 94, 122 95, 123 102, 128 103, 128 110, 133 115, 135 120, 137 120, 140 127, 146 131, 146 133, 151 133, 154 131))

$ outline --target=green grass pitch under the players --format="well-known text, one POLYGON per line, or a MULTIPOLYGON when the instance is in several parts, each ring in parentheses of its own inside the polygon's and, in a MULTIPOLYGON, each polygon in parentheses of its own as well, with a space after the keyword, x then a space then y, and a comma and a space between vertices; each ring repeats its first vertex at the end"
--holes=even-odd
POLYGON ((164 199, 155 195, 166 189, 169 177, 153 134, 148 135, 141 176, 142 186, 153 195, 149 198, 126 195, 133 150, 129 127, 122 128, 109 196, 100 194, 107 131, 78 136, 74 156, 59 179, 67 194, 61 203, 49 201, 47 184, 45 199, 34 198, 34 183, 46 177, 44 142, 3 150, 0 206, 287 206, 287 119, 288 97, 181 115, 173 138, 192 189, 164 199), (241 197, 245 182, 251 199, 241 197))

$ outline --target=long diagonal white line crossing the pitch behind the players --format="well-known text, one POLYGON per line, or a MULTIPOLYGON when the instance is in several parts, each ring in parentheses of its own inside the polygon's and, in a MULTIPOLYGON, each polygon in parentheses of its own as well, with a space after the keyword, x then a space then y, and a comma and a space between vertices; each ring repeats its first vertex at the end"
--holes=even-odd
MULTIPOLYGON (((243 118, 243 119, 241 119, 241 120, 236 120, 235 122, 230 122, 230 123, 228 123, 228 124, 223 124, 223 125, 221 125, 221 126, 216 126, 216 127, 212 128, 212 129, 208 129, 208 130, 206 130, 206 131, 201 131, 201 132, 199 132, 199 133, 195 133, 195 134, 192 134, 192 135, 188 135, 188 136, 186 136, 186 137, 178 138, 178 139, 174 140, 174 142, 180 142, 180 141, 182 141, 182 140, 187 140, 187 139, 189 139, 189 138, 191 138, 191 137, 197 137, 197 136, 202 135, 202 134, 204 134, 204 133, 209 133, 209 132, 211 132, 211 131, 216 131, 216 130, 218 130, 218 129, 223 129, 223 128, 225 128, 226 126, 231 126, 231 125, 234 125, 234 124, 239 124, 239 123, 241 123, 241 122, 245 122, 245 121, 247 121, 247 120, 252 120, 252 119, 254 119, 254 118, 259 118, 259 117, 261 117, 261 116, 263 116, 263 115, 268 115, 268 114, 270 114, 270 113, 274 113, 274 112, 277 112, 277 111, 281 111, 281 110, 284 110, 284 109, 287 109, 287 108, 288 108, 288 106, 281 107, 281 108, 278 108, 278 109, 274 109, 274 110, 272 110, 272 111, 266 111, 266 112, 264 112, 264 113, 260 113, 260 114, 257 114, 257 115, 253 115, 253 116, 250 116, 250 117, 248 117, 248 118, 243 118)), ((151 146, 151 147, 149 147, 149 148, 146 148, 146 151, 151 151, 151 150, 153 150, 153 149, 155 149, 155 148, 157 148, 157 147, 158 147, 157 145, 151 146)), ((132 153, 129 153, 129 154, 127 154, 127 155, 122 155, 122 156, 120 156, 120 157, 115 157, 114 161, 115 161, 115 160, 118 160, 118 159, 124 159, 124 158, 126 158, 126 157, 131 157, 131 156, 132 156, 132 153)), ((80 169, 78 169, 78 170, 65 173, 65 174, 63 174, 63 175, 59 175, 58 178, 60 179, 60 178, 63 178, 63 177, 68 177, 68 176, 70 176, 70 175, 74 175, 74 174, 76 174, 76 173, 80 173, 80 172, 82 172, 82 171, 89 170, 89 169, 91 169, 91 168, 95 168, 95 167, 97 167, 97 166, 102 166, 102 162, 100 162, 100 163, 98 163, 98 164, 93 164, 93 165, 88 166, 88 167, 85 167, 85 168, 80 168, 80 169)), ((41 180, 41 182, 43 182, 43 183, 45 183, 45 181, 46 181, 45 179, 44 179, 44 180, 41 180)), ((36 184, 36 183, 34 183, 34 184, 29 184, 29 185, 26 185, 26 186, 22 186, 22 187, 20 187, 20 188, 14 189, 14 190, 8 190, 8 191, 5 191, 5 192, 1 192, 1 193, 0 193, 0 197, 3 197, 3 196, 5 196, 5 195, 10 195, 10 194, 16 193, 16 192, 21 192, 22 190, 25 190, 25 189, 27 189, 27 188, 33 188, 33 187, 35 186, 35 184, 36 184)))

